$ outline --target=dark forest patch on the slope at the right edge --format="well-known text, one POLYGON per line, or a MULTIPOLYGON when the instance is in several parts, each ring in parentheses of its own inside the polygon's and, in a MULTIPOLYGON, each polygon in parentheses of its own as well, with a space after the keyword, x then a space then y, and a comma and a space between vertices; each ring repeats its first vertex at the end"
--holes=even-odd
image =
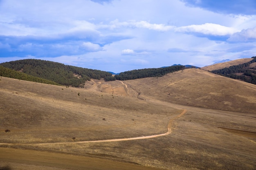
POLYGON ((256 57, 252 58, 254 59, 250 62, 239 64, 236 66, 230 66, 229 68, 213 70, 211 71, 211 73, 256 84, 256 68, 250 67, 250 64, 256 62, 256 57))

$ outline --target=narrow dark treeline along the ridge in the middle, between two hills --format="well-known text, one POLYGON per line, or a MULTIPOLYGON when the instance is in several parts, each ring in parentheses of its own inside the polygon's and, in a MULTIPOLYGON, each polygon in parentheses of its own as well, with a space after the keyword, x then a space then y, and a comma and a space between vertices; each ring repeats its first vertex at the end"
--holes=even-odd
POLYGON ((179 71, 185 69, 185 66, 177 65, 177 66, 169 66, 164 68, 144 68, 139 70, 125 71, 120 73, 119 75, 115 75, 115 77, 106 77, 106 81, 112 80, 128 80, 128 79, 140 79, 146 77, 160 77, 166 75, 168 73, 172 73, 174 71, 179 71))

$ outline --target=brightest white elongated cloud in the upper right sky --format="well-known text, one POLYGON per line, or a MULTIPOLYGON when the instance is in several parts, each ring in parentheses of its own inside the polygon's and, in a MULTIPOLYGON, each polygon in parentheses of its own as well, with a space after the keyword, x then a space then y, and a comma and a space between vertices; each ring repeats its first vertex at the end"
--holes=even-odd
POLYGON ((185 33, 202 33, 205 35, 231 35, 233 33, 238 32, 239 30, 227 26, 222 26, 219 24, 206 23, 202 25, 189 25, 189 26, 181 26, 175 29, 177 32, 185 32, 185 33))

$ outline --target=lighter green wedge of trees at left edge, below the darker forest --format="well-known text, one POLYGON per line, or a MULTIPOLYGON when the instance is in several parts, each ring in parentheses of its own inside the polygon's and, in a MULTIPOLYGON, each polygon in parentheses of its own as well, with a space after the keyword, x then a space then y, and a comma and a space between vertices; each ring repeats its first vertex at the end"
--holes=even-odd
POLYGON ((9 77, 9 78, 13 78, 13 79, 26 80, 26 81, 30 81, 30 82, 60 85, 56 82, 52 82, 52 81, 49 81, 47 79, 42 79, 42 78, 39 78, 39 77, 34 77, 34 76, 31 76, 31 75, 27 75, 25 73, 21 73, 19 71, 15 71, 15 70, 12 70, 10 68, 3 67, 3 66, 0 66, 0 76, 9 77))

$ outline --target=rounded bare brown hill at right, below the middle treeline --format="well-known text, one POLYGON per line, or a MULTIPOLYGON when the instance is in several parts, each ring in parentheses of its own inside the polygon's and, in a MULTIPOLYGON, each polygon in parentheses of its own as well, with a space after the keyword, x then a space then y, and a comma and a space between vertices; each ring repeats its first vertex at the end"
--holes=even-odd
MULTIPOLYGON (((163 77, 149 77, 123 82, 128 87, 126 91, 129 96, 141 99, 153 98, 184 106, 244 113, 255 113, 256 110, 256 85, 200 69, 185 69, 163 77)), ((118 94, 115 90, 117 87, 125 90, 121 83, 119 86, 113 84, 112 88, 110 87, 111 82, 108 84, 108 91, 103 84, 100 85, 101 91, 118 94)))

